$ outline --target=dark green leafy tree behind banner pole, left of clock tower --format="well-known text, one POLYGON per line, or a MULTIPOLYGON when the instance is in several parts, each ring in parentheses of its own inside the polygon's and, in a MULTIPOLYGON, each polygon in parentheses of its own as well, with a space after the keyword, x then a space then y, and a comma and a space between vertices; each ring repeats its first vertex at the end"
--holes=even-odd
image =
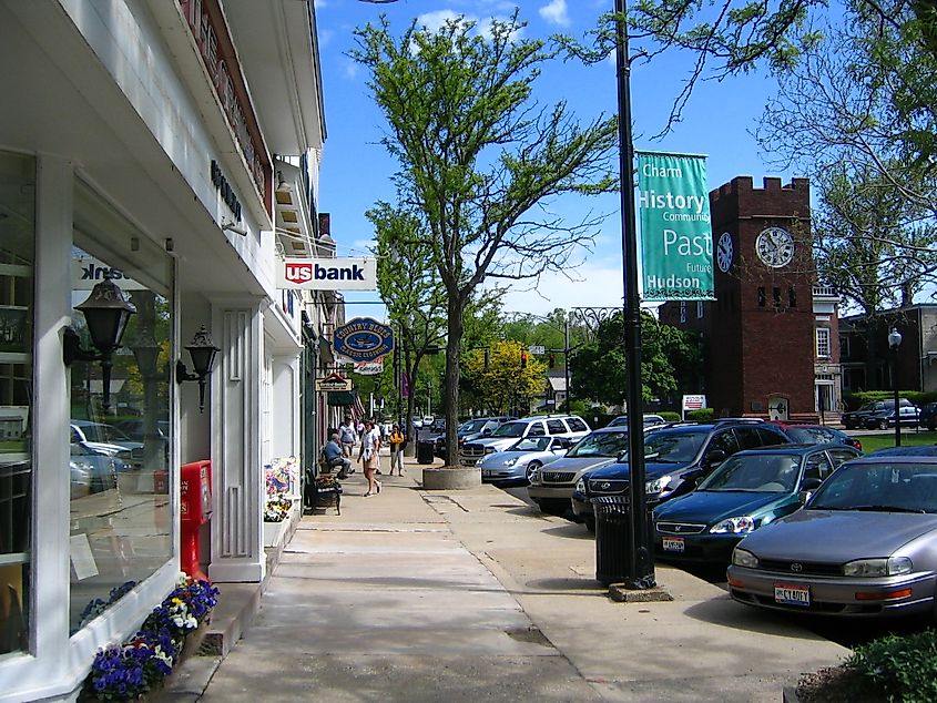
MULTIPOLYGON (((583 344, 573 356, 573 395, 605 405, 621 405, 628 383, 623 336, 621 313, 599 323, 594 340, 583 344)), ((641 339, 641 397, 645 401, 676 391, 678 369, 699 367, 699 337, 661 324, 643 310, 641 339)))

